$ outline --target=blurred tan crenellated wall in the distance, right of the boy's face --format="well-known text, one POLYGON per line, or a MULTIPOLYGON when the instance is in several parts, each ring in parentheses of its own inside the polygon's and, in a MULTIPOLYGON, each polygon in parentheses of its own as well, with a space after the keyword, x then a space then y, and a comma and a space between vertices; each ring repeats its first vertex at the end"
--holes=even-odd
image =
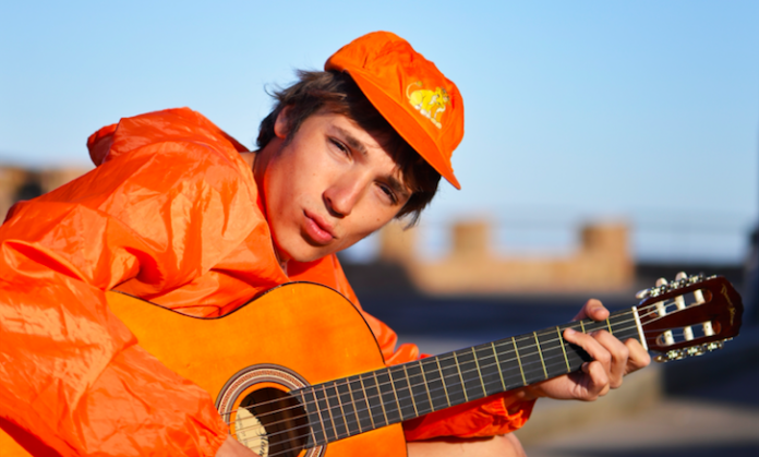
POLYGON ((413 286, 427 293, 623 291, 634 286, 635 264, 625 225, 590 225, 571 254, 556 257, 502 257, 485 221, 453 227, 448 254, 424 261, 415 230, 390 224, 380 234, 380 260, 396 263, 413 286))

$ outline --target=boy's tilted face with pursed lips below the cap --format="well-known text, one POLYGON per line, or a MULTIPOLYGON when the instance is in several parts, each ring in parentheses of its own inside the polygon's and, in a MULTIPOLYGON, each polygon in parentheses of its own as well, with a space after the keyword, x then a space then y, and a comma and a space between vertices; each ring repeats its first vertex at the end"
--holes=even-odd
POLYGON ((310 262, 349 248, 408 202, 411 191, 382 137, 322 111, 286 143, 285 119, 277 119, 255 170, 280 261, 310 262))

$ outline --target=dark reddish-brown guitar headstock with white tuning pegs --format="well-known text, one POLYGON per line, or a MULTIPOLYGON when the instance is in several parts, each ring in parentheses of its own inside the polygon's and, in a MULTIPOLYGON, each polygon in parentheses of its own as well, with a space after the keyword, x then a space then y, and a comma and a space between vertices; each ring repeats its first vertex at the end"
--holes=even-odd
POLYGON ((638 315, 654 360, 667 362, 721 349, 738 335, 743 302, 722 276, 677 275, 638 292, 638 315))

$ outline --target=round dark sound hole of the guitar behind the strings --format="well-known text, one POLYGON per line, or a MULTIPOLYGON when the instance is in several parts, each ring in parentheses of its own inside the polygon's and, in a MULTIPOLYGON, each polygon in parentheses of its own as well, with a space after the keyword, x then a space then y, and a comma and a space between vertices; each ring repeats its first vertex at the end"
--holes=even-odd
POLYGON ((265 387, 240 404, 236 420, 238 441, 261 457, 297 457, 309 441, 309 421, 300 402, 289 394, 265 387))

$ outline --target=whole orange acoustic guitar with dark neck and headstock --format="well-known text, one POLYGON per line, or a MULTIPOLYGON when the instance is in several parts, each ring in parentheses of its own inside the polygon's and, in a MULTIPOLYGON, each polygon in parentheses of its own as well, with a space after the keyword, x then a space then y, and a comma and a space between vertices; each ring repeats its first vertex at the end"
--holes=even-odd
MULTIPOLYGON (((684 276, 639 298, 605 321, 388 368, 361 313, 324 286, 286 284, 215 318, 108 294, 141 346, 210 393, 230 433, 262 457, 406 456, 402 421, 579 370, 591 359, 563 339, 567 327, 635 338, 656 361, 721 348, 740 327, 740 297, 723 277, 684 276)), ((13 436, 21 443, 0 431, 3 457, 46 455, 13 436)))

